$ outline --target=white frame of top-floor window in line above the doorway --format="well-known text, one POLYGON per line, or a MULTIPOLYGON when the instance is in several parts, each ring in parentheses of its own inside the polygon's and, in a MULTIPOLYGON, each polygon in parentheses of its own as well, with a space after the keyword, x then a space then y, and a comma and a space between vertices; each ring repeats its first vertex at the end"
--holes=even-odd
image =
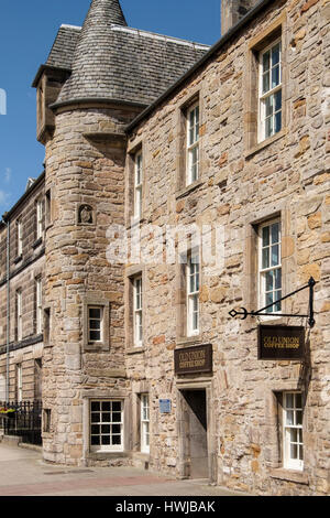
POLYGON ((186 183, 187 186, 196 182, 199 179, 199 128, 200 128, 200 107, 199 102, 195 102, 187 110, 187 129, 186 129, 186 183), (197 117, 198 111, 198 117, 197 117), (193 125, 191 125, 193 114, 193 125), (193 136, 191 136, 193 132, 193 136), (197 161, 194 162, 194 154, 197 153, 197 161), (196 173, 194 174, 194 165, 196 165, 196 173))

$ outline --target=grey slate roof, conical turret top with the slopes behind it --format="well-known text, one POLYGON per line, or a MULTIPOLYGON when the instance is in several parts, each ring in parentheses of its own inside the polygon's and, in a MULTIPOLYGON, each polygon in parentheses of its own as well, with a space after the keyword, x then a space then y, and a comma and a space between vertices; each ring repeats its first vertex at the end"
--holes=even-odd
POLYGON ((48 56, 47 65, 72 69, 54 106, 84 99, 147 106, 208 50, 129 28, 119 0, 92 0, 82 29, 63 25, 48 56))

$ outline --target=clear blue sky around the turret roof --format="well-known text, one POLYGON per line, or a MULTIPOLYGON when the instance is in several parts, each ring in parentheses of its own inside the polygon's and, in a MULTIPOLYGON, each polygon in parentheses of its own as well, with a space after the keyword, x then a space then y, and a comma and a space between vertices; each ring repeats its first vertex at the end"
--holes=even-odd
MULTIPOLYGON (((81 25, 90 0, 1 2, 0 15, 0 215, 43 171, 44 147, 35 138, 35 89, 62 23, 81 25), (1 98, 7 95, 7 115, 1 98)), ((220 0, 121 0, 133 28, 213 44, 220 37, 220 0)))

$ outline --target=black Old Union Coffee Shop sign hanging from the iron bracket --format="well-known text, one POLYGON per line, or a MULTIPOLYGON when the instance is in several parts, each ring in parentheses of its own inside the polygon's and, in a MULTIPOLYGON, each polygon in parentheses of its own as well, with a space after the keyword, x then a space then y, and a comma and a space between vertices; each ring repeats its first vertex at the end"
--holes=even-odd
POLYGON ((305 328, 301 326, 260 325, 258 359, 301 359, 305 328))

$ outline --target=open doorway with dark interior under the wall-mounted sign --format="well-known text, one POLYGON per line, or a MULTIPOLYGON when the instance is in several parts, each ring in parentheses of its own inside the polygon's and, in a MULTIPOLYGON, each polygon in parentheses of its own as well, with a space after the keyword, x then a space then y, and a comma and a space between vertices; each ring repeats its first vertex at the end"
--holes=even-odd
POLYGON ((182 393, 182 460, 184 475, 208 478, 208 423, 205 389, 180 390, 182 393))

